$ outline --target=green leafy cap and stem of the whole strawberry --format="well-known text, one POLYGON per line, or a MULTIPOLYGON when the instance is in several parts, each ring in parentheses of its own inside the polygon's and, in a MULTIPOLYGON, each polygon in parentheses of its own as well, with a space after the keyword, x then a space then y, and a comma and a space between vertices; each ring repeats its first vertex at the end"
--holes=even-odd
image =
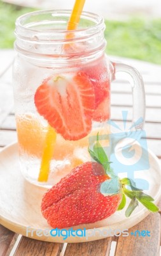
MULTIPOLYGON (((131 199, 131 202, 129 206, 127 207, 127 210, 125 212, 125 215, 128 217, 136 209, 138 205, 138 201, 141 202, 141 204, 144 205, 149 211, 151 212, 157 212, 158 207, 157 205, 153 204, 152 202, 154 199, 145 194, 143 192, 143 189, 139 189, 136 187, 136 183, 132 179, 124 178, 122 180, 119 180, 118 177, 115 175, 115 172, 110 167, 110 163, 108 156, 106 155, 106 152, 104 151, 104 148, 102 148, 101 143, 99 142, 99 133, 97 134, 97 142, 94 144, 93 150, 88 148, 88 152, 90 153, 90 156, 94 159, 94 161, 97 161, 97 163, 102 164, 104 167, 104 170, 106 170, 106 173, 111 176, 111 179, 106 180, 105 182, 102 182, 100 191, 102 195, 116 195, 120 192, 120 190, 123 188, 123 192, 126 196, 128 196, 131 199), (132 190, 129 190, 125 188, 125 186, 130 186, 132 190)), ((122 210, 125 207, 126 204, 126 198, 123 194, 122 202, 120 203, 118 207, 118 211, 122 210)))

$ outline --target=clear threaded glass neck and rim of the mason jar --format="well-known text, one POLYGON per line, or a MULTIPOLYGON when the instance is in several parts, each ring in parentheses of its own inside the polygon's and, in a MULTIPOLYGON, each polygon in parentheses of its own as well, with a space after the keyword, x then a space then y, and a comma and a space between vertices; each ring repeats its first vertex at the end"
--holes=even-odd
POLYGON ((41 10, 20 16, 16 20, 15 49, 25 56, 33 55, 33 58, 59 56, 71 60, 104 51, 104 19, 94 13, 82 12, 80 27, 67 30, 70 16, 71 10, 41 10))

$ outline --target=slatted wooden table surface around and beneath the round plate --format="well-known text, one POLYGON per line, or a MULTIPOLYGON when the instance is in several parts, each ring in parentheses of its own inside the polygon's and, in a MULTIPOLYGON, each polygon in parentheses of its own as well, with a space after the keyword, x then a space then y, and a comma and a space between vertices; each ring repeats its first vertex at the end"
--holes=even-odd
MULTIPOLYGON (((148 147, 157 155, 161 163, 161 66, 137 60, 111 58, 129 63, 143 75, 146 92, 145 130, 148 147)), ((0 151, 6 145, 17 140, 11 86, 13 59, 14 52, 12 50, 0 51, 0 151)), ((113 120, 119 124, 122 122, 122 110, 128 110, 130 122, 132 96, 129 83, 122 74, 112 85, 111 106, 113 120)), ((158 256, 160 255, 160 224, 159 213, 149 214, 141 223, 130 228, 129 232, 149 230, 151 232, 150 237, 121 236, 118 239, 117 237, 109 237, 80 244, 58 244, 32 240, 15 234, 0 225, 0 256, 10 255, 10 253, 14 256, 158 256)))

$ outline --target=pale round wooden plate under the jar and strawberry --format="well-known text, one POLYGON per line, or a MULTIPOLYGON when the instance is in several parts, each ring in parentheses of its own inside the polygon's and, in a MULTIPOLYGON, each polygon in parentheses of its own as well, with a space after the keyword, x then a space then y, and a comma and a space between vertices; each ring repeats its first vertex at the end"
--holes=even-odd
MULTIPOLYGON (((153 153, 149 151, 150 169, 136 172, 135 177, 148 180, 150 188, 146 191, 158 202, 161 195, 161 170, 160 162, 153 153)), ((46 189, 34 186, 27 182, 22 176, 18 163, 17 143, 4 148, 0 153, 0 223, 13 232, 29 236, 33 239, 57 243, 79 243, 94 241, 108 237, 108 232, 102 230, 125 230, 133 227, 143 220, 149 213, 142 205, 129 217, 125 217, 125 211, 117 211, 113 216, 103 221, 89 225, 80 225, 76 228, 87 228, 90 237, 68 237, 62 236, 37 236, 36 230, 51 230, 46 220, 41 215, 41 198, 46 189), (27 234, 28 229, 33 232, 27 234), (90 230, 89 230, 90 229, 90 230), (93 232, 95 230, 95 232, 93 232)), ((110 232, 109 232, 110 233, 110 232)))

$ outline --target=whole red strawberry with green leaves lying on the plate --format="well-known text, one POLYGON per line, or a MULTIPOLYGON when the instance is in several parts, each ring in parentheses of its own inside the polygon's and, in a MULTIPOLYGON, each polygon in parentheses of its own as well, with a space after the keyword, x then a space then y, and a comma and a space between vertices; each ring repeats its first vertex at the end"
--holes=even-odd
POLYGON ((136 188, 133 180, 120 180, 115 175, 98 134, 93 150, 88 151, 95 162, 77 166, 43 196, 41 212, 50 226, 66 228, 104 220, 125 207, 125 195, 131 200, 125 211, 127 217, 139 202, 151 212, 158 211, 153 198, 136 188))

